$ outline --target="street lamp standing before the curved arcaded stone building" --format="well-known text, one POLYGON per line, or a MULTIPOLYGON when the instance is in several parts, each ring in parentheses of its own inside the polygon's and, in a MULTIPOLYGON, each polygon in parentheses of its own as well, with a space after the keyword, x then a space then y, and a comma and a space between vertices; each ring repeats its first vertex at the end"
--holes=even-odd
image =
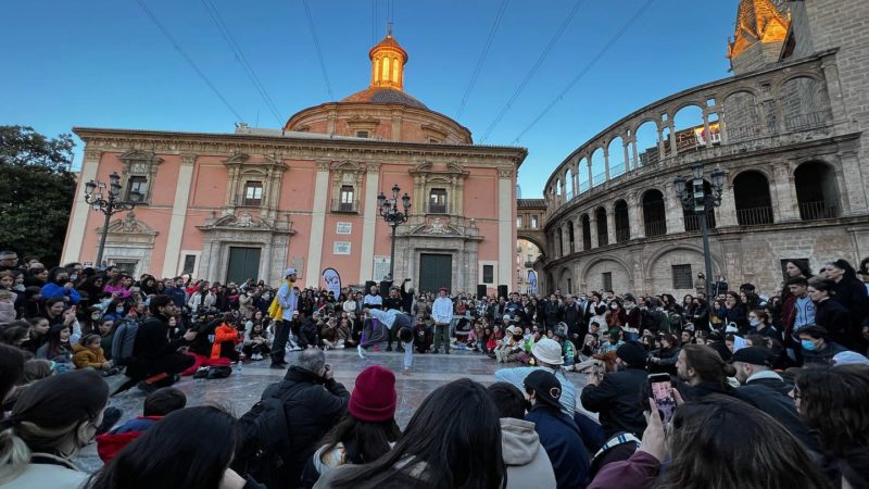
POLYGON ((703 231, 703 261, 706 265, 706 297, 710 297, 713 292, 713 258, 709 252, 709 228, 706 224, 706 213, 709 209, 715 209, 721 205, 721 189, 725 186, 725 171, 717 167, 709 174, 711 177, 711 185, 709 192, 706 192, 706 186, 703 180, 703 164, 697 163, 694 165, 694 177, 688 178, 684 176, 677 176, 673 180, 676 186, 676 195, 682 202, 682 208, 685 211, 692 212, 700 216, 700 227, 703 231))

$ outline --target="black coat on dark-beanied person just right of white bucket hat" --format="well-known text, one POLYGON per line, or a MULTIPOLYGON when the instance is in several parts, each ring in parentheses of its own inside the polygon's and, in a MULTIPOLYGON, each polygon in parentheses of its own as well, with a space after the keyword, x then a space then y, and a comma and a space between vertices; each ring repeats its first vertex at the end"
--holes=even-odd
POLYGON ((645 431, 642 399, 648 373, 643 368, 626 368, 604 376, 601 385, 589 384, 579 396, 582 408, 600 413, 599 419, 607 437, 628 431, 638 437, 645 431))

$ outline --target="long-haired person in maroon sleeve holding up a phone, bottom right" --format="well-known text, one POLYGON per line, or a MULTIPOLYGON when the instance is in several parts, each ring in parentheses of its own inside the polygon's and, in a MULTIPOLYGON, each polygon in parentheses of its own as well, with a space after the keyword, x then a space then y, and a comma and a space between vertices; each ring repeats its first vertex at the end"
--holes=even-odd
POLYGON ((588 489, 832 489, 793 435, 742 401, 710 394, 683 403, 666 439, 655 402, 647 402, 648 427, 640 449, 626 461, 604 465, 588 489))

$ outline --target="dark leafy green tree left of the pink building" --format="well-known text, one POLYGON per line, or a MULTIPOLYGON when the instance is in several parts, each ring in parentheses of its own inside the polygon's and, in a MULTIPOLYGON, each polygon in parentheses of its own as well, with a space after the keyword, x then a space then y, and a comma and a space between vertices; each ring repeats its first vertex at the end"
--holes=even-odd
POLYGON ((0 126, 0 250, 58 263, 75 196, 74 147, 68 134, 0 126))

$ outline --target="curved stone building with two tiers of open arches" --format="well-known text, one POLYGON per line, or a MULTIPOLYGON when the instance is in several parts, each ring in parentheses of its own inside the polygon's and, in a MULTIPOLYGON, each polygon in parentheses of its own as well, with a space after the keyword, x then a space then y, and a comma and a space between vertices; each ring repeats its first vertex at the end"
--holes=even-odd
POLYGON ((716 277, 771 293, 785 260, 869 255, 866 18, 869 2, 742 0, 732 77, 634 111, 552 173, 542 290, 692 292, 700 220, 673 180, 697 164, 726 172, 707 213, 716 277))

